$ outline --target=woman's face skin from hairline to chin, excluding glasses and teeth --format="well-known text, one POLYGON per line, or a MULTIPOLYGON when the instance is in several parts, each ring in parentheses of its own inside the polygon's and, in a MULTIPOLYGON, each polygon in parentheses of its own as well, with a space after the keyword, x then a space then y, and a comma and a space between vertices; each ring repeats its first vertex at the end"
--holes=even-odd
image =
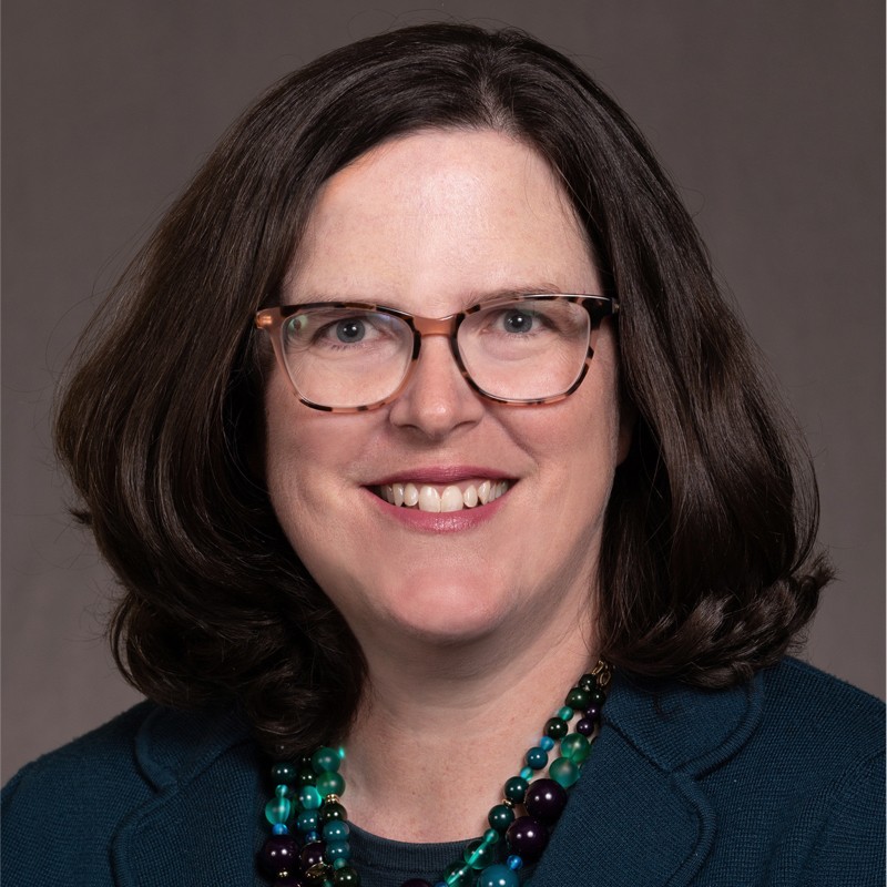
MULTIPOLYGON (((506 135, 441 130, 387 142, 326 183, 283 302, 443 317, 552 289, 601 293, 554 175, 506 135)), ((609 323, 585 380, 553 405, 483 400, 443 336, 425 338, 408 386, 380 409, 309 409, 277 367, 265 396, 275 511, 365 649, 588 628, 604 508, 630 437, 609 323), (380 496, 385 485, 441 493, 486 481, 504 493, 448 513, 380 496)))

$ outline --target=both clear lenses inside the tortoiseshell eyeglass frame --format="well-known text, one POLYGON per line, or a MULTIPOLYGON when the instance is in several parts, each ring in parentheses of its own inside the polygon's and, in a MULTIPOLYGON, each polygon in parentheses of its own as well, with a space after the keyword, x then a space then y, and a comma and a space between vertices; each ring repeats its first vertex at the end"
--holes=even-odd
MULTIPOLYGON (((457 345, 486 394, 509 400, 553 397, 582 373, 588 312, 562 299, 497 303, 465 316, 457 345)), ((309 306, 286 318, 283 354, 299 394, 327 407, 359 407, 390 397, 414 354, 414 330, 385 310, 309 306)))

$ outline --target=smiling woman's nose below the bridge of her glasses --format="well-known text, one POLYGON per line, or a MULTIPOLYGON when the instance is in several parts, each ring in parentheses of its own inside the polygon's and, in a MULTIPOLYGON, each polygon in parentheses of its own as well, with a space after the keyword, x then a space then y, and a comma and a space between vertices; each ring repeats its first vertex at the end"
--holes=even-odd
POLYGON ((439 440, 480 421, 485 409, 481 397, 462 378, 447 336, 424 335, 407 386, 391 404, 391 424, 439 440))

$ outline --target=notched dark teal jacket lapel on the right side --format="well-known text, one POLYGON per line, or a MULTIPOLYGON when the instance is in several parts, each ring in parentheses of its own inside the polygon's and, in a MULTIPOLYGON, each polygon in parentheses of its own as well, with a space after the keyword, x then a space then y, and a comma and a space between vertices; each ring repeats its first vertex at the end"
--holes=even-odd
POLYGON ((706 692, 618 674, 533 887, 692 883, 717 828, 699 777, 745 744, 759 695, 759 679, 706 692))

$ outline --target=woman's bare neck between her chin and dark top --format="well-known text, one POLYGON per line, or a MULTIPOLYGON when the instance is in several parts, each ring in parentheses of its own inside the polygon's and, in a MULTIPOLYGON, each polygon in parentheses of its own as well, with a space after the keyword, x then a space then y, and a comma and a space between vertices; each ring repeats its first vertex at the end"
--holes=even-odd
POLYGON ((399 655, 366 650, 369 682, 343 767, 351 822, 408 842, 483 832, 502 784, 597 660, 587 620, 537 628, 526 638, 406 644, 399 655))

